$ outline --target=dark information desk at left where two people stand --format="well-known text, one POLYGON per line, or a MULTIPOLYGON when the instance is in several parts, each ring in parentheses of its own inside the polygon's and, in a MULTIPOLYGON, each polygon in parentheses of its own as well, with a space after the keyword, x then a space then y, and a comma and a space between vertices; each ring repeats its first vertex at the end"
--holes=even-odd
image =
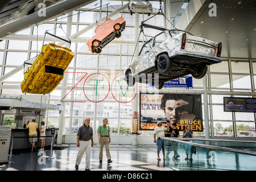
MULTIPOLYGON (((55 129, 55 133, 56 133, 56 130, 58 129, 55 129)), ((46 129, 46 136, 51 136, 51 134, 52 134, 52 129, 51 128, 46 129)), ((23 129, 23 128, 11 129, 10 148, 11 148, 12 139, 13 139, 13 151, 22 151, 22 150, 28 150, 28 149, 31 150, 32 145, 28 140, 28 129, 23 129), (15 138, 15 137, 18 137, 18 138, 15 138), (21 138, 21 137, 24 137, 24 138, 21 138)), ((46 144, 44 148, 50 148, 51 142, 52 142, 52 137, 46 137, 46 144)), ((35 142, 35 145, 36 145, 36 150, 41 148, 41 140, 39 139, 39 137, 38 137, 38 141, 35 142)))

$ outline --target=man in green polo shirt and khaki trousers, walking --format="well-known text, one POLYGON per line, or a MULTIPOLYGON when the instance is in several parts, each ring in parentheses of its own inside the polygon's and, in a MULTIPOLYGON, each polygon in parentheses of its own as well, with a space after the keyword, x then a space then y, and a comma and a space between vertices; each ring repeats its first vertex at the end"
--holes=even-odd
POLYGON ((102 157, 103 157, 103 147, 105 145, 106 149, 106 156, 108 158, 108 163, 112 163, 111 155, 109 152, 109 143, 110 143, 110 128, 108 125, 108 119, 103 119, 103 124, 98 126, 98 143, 100 143, 100 154, 98 158, 100 159, 100 163, 102 163, 102 157))

